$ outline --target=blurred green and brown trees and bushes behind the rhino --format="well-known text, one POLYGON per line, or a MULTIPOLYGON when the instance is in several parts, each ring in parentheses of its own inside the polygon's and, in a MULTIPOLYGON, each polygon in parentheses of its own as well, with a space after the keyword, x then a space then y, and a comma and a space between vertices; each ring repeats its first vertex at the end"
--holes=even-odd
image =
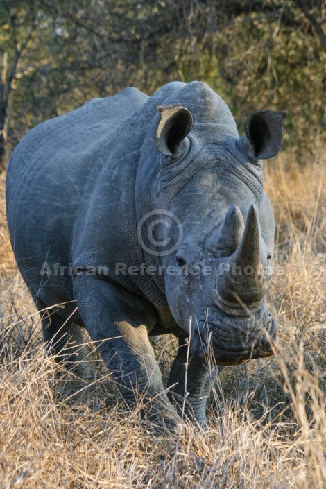
POLYGON ((288 110, 286 143, 301 153, 325 136, 325 10, 320 0, 0 0, 0 130, 11 149, 93 96, 201 79, 240 128, 257 108, 288 110))

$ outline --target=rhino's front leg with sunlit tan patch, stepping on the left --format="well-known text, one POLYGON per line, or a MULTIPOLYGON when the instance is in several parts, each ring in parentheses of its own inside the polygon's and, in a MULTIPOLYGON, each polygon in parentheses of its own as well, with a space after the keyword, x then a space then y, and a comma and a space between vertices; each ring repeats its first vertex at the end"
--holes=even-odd
POLYGON ((155 323, 151 304, 123 287, 96 276, 74 278, 78 312, 92 341, 112 372, 128 406, 139 398, 143 415, 169 429, 179 417, 169 402, 147 327, 155 323))

